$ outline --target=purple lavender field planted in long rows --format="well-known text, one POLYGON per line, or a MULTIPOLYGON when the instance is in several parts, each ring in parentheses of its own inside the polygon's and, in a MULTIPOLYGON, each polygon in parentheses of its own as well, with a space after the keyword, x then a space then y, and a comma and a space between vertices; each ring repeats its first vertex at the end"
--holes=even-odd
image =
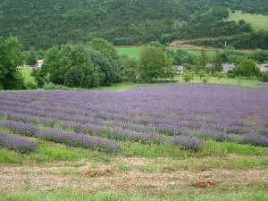
MULTIPOLYGON (((268 88, 146 85, 0 95, 0 127, 117 155, 121 142, 198 151, 206 140, 268 147, 268 88)), ((1 145, 1 144, 0 144, 1 145)))

